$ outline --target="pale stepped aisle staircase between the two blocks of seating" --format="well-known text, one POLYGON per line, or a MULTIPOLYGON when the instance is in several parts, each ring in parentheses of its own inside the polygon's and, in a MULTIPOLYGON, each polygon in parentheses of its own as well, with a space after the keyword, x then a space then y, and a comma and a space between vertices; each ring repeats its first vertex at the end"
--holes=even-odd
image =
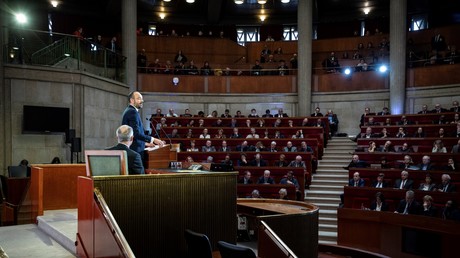
POLYGON ((356 143, 347 137, 332 138, 313 174, 305 201, 319 207, 319 243, 337 244, 337 208, 343 186, 348 183, 348 171, 343 167, 350 163, 355 148, 356 143))

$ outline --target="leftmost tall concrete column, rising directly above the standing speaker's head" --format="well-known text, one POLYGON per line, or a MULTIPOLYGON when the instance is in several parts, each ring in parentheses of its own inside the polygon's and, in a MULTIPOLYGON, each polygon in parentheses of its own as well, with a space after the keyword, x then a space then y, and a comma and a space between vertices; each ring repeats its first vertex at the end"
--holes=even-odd
POLYGON ((126 56, 126 84, 137 89, 137 1, 123 0, 121 6, 122 51, 126 56))

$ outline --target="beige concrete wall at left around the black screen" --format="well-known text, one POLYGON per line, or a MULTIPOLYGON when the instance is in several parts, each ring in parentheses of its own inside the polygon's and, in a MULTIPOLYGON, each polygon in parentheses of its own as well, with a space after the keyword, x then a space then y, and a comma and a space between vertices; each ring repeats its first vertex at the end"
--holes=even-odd
MULTIPOLYGON (((5 65, 4 71, 0 174, 22 159, 49 163, 57 156, 70 162, 64 134, 22 134, 23 105, 70 108, 70 128, 82 138, 83 150, 116 143, 115 130, 127 105, 126 85, 73 70, 5 65)), ((78 160, 83 159, 80 154, 78 160)), ((77 155, 73 160, 77 161, 77 155)))

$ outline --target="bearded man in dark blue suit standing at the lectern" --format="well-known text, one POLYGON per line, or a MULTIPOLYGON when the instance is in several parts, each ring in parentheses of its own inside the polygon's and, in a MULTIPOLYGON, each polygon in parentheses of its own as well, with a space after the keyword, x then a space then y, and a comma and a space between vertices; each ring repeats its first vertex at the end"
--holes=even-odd
POLYGON ((142 94, 138 91, 133 91, 128 95, 128 100, 129 106, 126 107, 123 112, 121 123, 123 125, 129 125, 133 129, 134 140, 130 149, 139 153, 144 161, 145 146, 153 147, 154 144, 158 144, 160 147, 163 147, 165 142, 144 134, 144 126, 142 125, 142 119, 139 115, 139 109, 141 109, 144 104, 142 94))

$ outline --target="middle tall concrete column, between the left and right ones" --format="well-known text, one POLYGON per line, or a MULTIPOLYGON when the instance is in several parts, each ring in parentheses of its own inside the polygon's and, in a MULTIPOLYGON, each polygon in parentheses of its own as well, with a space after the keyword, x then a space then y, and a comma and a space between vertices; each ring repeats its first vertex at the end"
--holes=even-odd
POLYGON ((298 114, 308 116, 311 107, 313 0, 299 1, 297 6, 298 36, 298 114))

